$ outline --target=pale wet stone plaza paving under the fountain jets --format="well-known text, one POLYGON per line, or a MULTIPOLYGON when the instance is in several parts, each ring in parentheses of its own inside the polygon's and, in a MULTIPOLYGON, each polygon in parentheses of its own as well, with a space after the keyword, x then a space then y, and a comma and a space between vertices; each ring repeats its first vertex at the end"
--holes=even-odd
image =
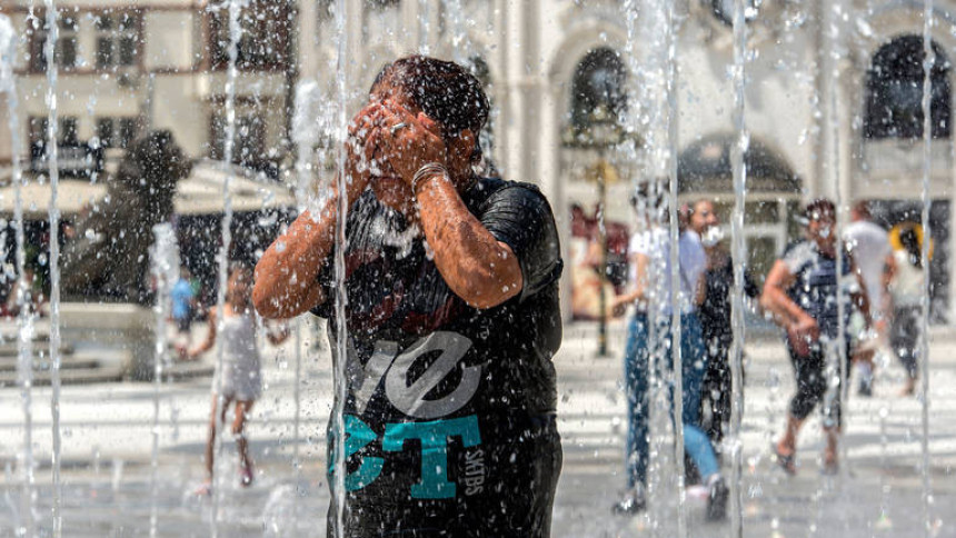
MULTIPOLYGON (((197 336, 201 328, 197 329, 197 336)), ((331 409, 331 369, 323 339, 310 330, 302 340, 300 428, 295 437, 293 345, 263 356, 267 388, 249 426, 257 462, 252 487, 240 488, 235 447, 223 442, 219 495, 197 497, 203 468, 210 393, 209 378, 163 385, 160 389, 160 452, 157 468, 156 535, 163 537, 326 536, 329 502, 325 476, 325 429, 331 409), (298 451, 300 465, 293 465, 298 451), (298 491, 298 495, 297 495, 298 491), (218 518, 212 519, 216 512, 218 518)), ((552 536, 556 538, 677 536, 673 479, 654 495, 654 506, 637 517, 614 516, 610 507, 624 487, 626 434, 620 348, 624 323, 611 327, 610 358, 595 357, 592 325, 569 325, 555 359, 559 380, 559 428, 564 470, 558 486, 552 536)), ((213 353, 208 360, 212 360, 213 353)), ((880 370, 873 398, 853 395, 844 436, 842 472, 819 472, 819 419, 800 438, 798 474, 787 477, 769 457, 779 434, 793 375, 783 346, 763 338, 747 345, 744 428, 744 536, 922 537, 920 402, 897 396, 900 367, 880 370)), ((929 535, 956 537, 956 336, 935 335, 930 351, 929 535)), ((22 456, 22 404, 18 389, 0 390, 0 537, 34 521, 36 536, 51 536, 50 389, 32 391, 36 502, 23 514, 18 462, 22 456)), ((149 536, 153 491, 151 447, 153 386, 101 383, 64 386, 62 420, 63 536, 149 536)), ((661 476, 673 477, 664 445, 661 476)), ((724 462, 729 477, 728 461, 724 462)), ((704 519, 703 500, 689 489, 688 535, 729 536, 728 522, 704 519)))

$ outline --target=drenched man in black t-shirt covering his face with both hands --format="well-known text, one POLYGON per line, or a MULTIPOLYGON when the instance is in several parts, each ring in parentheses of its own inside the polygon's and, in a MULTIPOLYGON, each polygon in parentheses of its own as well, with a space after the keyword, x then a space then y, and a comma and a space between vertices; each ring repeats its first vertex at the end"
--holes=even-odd
MULTIPOLYGON (((551 209, 529 185, 472 171, 488 99, 461 67, 397 60, 369 101, 350 126, 341 193, 343 536, 547 537, 561 467, 551 209)), ((339 196, 262 256, 263 316, 311 310, 336 327, 339 196)))

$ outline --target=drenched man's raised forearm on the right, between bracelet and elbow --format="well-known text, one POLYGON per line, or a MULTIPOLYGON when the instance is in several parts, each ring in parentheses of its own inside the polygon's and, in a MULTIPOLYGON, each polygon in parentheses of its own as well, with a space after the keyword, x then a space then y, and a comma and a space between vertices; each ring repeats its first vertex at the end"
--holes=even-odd
POLYGON ((511 249, 474 216, 447 176, 419 181, 419 218, 448 287, 478 308, 490 308, 518 295, 521 268, 511 249))

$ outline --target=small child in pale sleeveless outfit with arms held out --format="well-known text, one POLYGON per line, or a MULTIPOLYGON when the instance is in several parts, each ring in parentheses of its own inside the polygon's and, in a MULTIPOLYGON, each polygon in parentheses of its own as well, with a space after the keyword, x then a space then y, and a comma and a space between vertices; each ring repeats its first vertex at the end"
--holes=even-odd
MULTIPOLYGON (((233 405, 232 437, 239 451, 240 484, 248 487, 252 484, 252 459, 249 456, 249 441, 246 437, 246 421, 259 396, 262 393, 262 373, 259 357, 259 346, 256 331, 256 313, 252 309, 252 272, 246 267, 236 267, 230 271, 226 303, 222 311, 209 309, 209 333, 206 340, 193 349, 181 348, 183 358, 196 360, 200 355, 212 349, 218 339, 223 347, 222 361, 216 365, 212 378, 212 412, 209 418, 209 437, 206 441, 207 481, 197 491, 209 495, 212 490, 212 469, 216 444, 217 418, 226 424, 226 412, 233 405), (222 332, 217 332, 217 323, 222 318, 222 332), (221 390, 221 392, 220 392, 221 390), (219 398, 222 397, 222 408, 217 416, 219 398)), ((278 332, 267 331, 267 338, 273 346, 282 343, 289 337, 288 326, 282 325, 278 332)))

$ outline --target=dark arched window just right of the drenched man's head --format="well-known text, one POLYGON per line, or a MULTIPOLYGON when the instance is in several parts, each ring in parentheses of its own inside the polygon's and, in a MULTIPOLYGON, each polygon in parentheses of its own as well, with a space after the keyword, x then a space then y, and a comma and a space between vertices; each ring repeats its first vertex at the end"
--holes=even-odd
POLYGON ((627 71, 616 51, 595 49, 575 70, 571 83, 571 127, 584 131, 596 123, 617 122, 627 109, 627 71))

